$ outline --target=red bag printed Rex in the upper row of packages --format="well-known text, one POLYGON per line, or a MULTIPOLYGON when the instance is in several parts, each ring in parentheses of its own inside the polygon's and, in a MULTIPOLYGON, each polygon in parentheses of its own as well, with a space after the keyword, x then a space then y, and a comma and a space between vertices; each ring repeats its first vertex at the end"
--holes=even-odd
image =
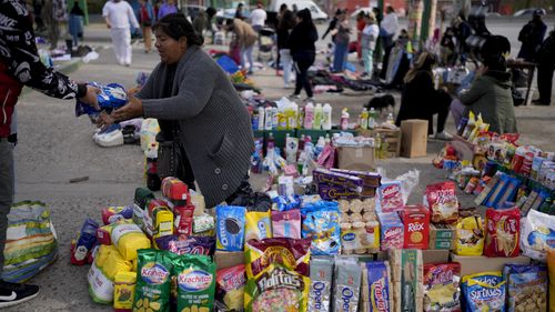
POLYGON ((405 225, 404 249, 427 249, 430 210, 423 205, 405 205, 400 214, 405 225))

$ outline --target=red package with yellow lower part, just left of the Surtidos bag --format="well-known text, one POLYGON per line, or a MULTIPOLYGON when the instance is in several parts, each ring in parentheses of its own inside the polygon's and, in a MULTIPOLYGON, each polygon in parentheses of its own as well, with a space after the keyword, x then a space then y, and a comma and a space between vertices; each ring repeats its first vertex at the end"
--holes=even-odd
POLYGON ((428 263, 424 265, 424 311, 461 311, 461 264, 428 263))

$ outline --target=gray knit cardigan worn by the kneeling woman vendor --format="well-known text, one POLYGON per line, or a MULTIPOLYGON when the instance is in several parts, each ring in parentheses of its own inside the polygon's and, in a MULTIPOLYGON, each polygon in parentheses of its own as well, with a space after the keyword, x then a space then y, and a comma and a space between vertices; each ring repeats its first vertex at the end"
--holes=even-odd
POLYGON ((162 98, 168 67, 159 63, 144 88, 144 117, 176 120, 196 183, 208 208, 241 184, 254 151, 251 121, 229 77, 200 47, 178 63, 172 97, 162 98))

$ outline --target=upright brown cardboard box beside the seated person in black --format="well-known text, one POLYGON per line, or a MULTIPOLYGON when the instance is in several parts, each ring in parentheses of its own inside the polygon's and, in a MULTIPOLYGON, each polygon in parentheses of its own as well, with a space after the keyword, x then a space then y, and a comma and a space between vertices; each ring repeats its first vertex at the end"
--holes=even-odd
POLYGON ((401 155, 425 157, 427 149, 427 120, 408 119, 401 122, 401 155))

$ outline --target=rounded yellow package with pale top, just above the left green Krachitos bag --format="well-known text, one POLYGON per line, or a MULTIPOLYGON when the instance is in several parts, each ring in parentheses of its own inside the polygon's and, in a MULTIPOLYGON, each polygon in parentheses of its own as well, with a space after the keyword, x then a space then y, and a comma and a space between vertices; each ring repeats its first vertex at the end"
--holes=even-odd
POLYGON ((132 221, 112 224, 110 238, 125 260, 135 260, 138 250, 150 248, 149 238, 132 221))

